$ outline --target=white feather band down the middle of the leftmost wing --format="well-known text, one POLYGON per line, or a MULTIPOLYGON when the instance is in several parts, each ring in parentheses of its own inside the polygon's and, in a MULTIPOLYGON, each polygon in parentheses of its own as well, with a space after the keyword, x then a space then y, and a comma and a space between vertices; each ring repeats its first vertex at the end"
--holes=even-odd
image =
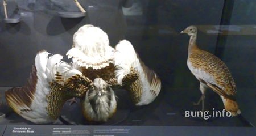
POLYGON ((54 74, 52 75, 50 70, 54 69, 55 63, 60 63, 60 56, 57 56, 59 59, 55 57, 48 59, 48 55, 49 53, 46 51, 36 55, 35 66, 38 80, 35 93, 33 94, 34 98, 31 98, 31 112, 23 112, 21 114, 22 117, 34 123, 48 123, 54 121, 48 116, 46 96, 49 94, 49 91, 51 91, 49 81, 54 79, 54 74))

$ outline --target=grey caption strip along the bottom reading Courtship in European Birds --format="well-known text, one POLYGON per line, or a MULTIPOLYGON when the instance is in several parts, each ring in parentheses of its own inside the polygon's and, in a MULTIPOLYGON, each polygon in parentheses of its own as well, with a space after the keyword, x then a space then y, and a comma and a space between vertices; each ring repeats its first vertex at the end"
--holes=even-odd
MULTIPOLYGON (((4 128, 4 127, 3 127, 4 128)), ((0 129, 1 130, 1 129, 0 129)), ((9 135, 254 135, 255 128, 169 127, 169 126, 49 126, 8 125, 3 136, 9 135), (184 131, 185 130, 185 131, 184 131)))

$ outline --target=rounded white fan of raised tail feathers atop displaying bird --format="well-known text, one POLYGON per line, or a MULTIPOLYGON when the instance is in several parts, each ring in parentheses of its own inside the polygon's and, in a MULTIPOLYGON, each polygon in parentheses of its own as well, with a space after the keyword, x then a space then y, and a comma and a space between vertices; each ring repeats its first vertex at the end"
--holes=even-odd
POLYGON ((67 52, 80 67, 101 69, 113 62, 114 49, 108 35, 98 27, 84 25, 73 36, 73 48, 67 52))

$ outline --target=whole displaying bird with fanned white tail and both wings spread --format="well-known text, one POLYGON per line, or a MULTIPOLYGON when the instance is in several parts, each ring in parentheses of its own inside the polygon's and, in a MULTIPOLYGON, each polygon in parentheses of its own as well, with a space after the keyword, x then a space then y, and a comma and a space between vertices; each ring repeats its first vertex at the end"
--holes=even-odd
POLYGON ((151 103, 160 92, 160 79, 139 59, 133 45, 122 40, 114 49, 108 35, 93 25, 84 25, 74 34, 73 47, 67 52, 70 65, 59 54, 48 55, 46 51, 36 55, 26 86, 6 91, 11 108, 37 124, 55 121, 72 97, 82 99, 88 120, 108 120, 117 107, 109 85, 123 85, 135 105, 151 103))

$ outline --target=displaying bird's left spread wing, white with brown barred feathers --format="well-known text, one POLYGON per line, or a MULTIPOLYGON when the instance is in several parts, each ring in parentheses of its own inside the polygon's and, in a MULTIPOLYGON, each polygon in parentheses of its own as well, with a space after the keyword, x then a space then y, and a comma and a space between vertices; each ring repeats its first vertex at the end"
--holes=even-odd
POLYGON ((5 92, 7 103, 20 116, 43 124, 54 122, 63 104, 72 97, 85 96, 92 84, 82 73, 61 61, 63 56, 48 57, 45 50, 35 57, 35 65, 27 84, 5 92))

